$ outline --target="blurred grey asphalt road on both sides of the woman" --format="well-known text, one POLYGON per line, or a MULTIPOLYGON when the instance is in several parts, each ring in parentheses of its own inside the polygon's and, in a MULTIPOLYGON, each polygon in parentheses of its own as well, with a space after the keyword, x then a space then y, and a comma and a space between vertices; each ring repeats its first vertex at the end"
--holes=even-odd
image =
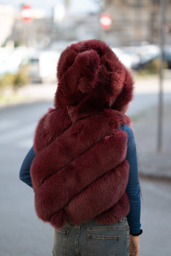
MULTIPOLYGON (((168 96, 166 96, 168 97, 168 96)), ((170 97, 170 96, 169 96, 170 97)), ((138 114, 139 103, 151 106, 155 95, 136 96, 129 114, 138 114), (145 103, 146 102, 146 103, 145 103)), ((33 144, 37 120, 52 102, 23 104, 0 110, 0 255, 52 255, 53 228, 34 210, 34 193, 19 180, 19 169, 33 144)), ((143 106, 141 106, 143 107, 143 106)), ((142 180, 142 228, 140 256, 170 256, 171 186, 162 180, 142 180)))

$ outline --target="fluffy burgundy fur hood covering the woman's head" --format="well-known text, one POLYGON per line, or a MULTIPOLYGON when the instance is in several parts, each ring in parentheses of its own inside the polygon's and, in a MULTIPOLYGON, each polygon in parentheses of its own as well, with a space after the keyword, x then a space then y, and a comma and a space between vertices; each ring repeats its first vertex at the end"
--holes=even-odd
POLYGON ((122 111, 133 98, 133 77, 106 43, 72 44, 61 53, 55 107, 82 111, 110 107, 122 111))

